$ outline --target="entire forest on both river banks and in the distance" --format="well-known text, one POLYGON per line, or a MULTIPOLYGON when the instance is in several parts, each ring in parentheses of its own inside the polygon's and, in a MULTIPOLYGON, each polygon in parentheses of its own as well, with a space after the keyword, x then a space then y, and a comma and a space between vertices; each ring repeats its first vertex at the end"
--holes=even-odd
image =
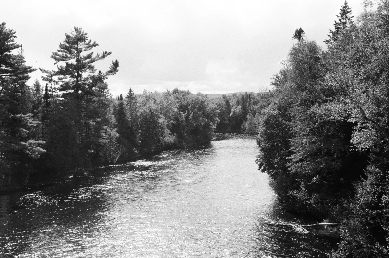
MULTIPOLYGON (((16 32, 0 24, 0 190, 208 143, 257 135, 261 172, 284 209, 336 223, 330 257, 389 256, 389 1, 347 2, 325 48, 296 29, 271 90, 224 95, 180 89, 112 96, 99 45, 74 27, 28 85, 16 32)), ((292 33, 291 33, 292 34, 292 33)))

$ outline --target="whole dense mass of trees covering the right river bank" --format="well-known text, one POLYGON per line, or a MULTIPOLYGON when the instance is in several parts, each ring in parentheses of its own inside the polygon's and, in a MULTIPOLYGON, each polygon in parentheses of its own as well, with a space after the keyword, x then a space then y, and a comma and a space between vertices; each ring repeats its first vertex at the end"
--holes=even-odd
POLYGON ((286 208, 339 223, 334 258, 389 256, 389 1, 365 4, 325 50, 295 31, 259 123, 259 169, 286 208))

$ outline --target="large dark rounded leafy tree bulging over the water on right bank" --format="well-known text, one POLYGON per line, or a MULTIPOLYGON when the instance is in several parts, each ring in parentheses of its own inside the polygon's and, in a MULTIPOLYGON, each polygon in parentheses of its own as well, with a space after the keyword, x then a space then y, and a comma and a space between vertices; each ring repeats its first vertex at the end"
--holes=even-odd
POLYGON ((329 56, 313 41, 293 46, 274 78, 258 137, 260 170, 283 204, 322 218, 333 216, 367 164, 367 155, 351 147, 353 124, 334 103, 336 84, 326 81, 329 56))

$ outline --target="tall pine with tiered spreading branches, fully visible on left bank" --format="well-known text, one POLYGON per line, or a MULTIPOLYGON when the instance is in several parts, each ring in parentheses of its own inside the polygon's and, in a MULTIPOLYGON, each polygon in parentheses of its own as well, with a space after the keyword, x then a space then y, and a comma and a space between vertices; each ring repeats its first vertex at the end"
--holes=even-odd
MULTIPOLYGON (((66 125, 72 127, 72 139, 75 139, 70 144, 74 146, 67 146, 68 151, 64 153, 68 154, 66 159, 74 160, 72 163, 74 167, 87 167, 95 161, 104 162, 101 154, 104 144, 107 143, 107 130, 111 132, 109 135, 115 135, 108 128, 109 112, 106 110, 110 105, 108 101, 110 94, 105 80, 118 72, 119 61, 113 61, 106 72, 96 73, 94 64, 111 55, 111 52, 107 51, 94 54, 92 50, 97 46, 98 44, 92 42, 82 28, 74 27, 70 34, 65 34, 65 40, 59 44, 57 51, 52 52, 51 58, 57 64, 57 69, 53 71, 41 69, 45 73, 42 79, 47 81, 52 89, 50 105, 55 110, 53 114, 62 117, 66 125), (55 91, 58 91, 60 98, 54 98, 55 91)), ((48 104, 47 96, 45 102, 48 104)), ((51 116, 50 119, 55 121, 59 117, 51 116)), ((48 122, 48 128, 55 128, 56 125, 52 124, 52 121, 48 122)), ((58 137, 48 135, 48 138, 60 149, 62 147, 57 144, 57 139, 66 138, 68 131, 59 132, 63 135, 58 137)), ((52 155, 54 153, 48 155, 48 158, 49 156, 54 158, 52 155)))

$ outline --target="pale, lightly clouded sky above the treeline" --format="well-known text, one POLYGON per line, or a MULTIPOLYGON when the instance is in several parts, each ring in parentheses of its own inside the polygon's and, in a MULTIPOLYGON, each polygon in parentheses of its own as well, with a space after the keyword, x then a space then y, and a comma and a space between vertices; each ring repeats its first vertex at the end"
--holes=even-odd
MULTIPOLYGON (((363 0, 348 0, 355 17, 363 0)), ((0 22, 16 31, 27 65, 55 69, 50 58, 74 26, 112 55, 114 96, 180 88, 193 93, 270 89, 302 28, 323 48, 344 0, 0 0, 0 22)), ((30 84, 41 77, 32 73, 30 84)))

